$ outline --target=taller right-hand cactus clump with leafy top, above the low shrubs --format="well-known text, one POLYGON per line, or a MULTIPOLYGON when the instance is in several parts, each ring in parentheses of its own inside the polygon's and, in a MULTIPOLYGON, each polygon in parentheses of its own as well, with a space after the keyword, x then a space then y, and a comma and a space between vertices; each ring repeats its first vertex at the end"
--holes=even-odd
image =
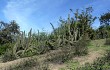
MULTIPOLYGON (((88 37, 87 30, 90 29, 93 18, 90 19, 86 17, 87 12, 81 14, 78 13, 78 10, 75 13, 75 18, 68 15, 67 20, 60 20, 61 25, 58 28, 53 28, 53 39, 50 39, 49 44, 52 47, 73 47, 74 44, 82 39, 82 37, 88 37), (83 15, 85 14, 85 15, 83 15), (81 23, 81 21, 85 21, 81 23), (84 25, 83 25, 84 24, 84 25)), ((91 15, 88 15, 92 17, 91 15)))

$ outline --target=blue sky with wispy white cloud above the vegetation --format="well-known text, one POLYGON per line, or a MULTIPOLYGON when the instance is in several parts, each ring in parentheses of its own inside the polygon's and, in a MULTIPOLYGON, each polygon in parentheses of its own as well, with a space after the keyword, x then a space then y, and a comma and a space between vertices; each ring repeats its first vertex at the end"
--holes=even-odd
MULTIPOLYGON (((93 15, 110 10, 110 0, 0 0, 0 20, 16 20, 21 30, 52 31, 50 22, 58 26, 60 17, 67 18, 69 9, 84 9, 92 6, 93 15)), ((94 27, 99 26, 96 20, 94 27)))

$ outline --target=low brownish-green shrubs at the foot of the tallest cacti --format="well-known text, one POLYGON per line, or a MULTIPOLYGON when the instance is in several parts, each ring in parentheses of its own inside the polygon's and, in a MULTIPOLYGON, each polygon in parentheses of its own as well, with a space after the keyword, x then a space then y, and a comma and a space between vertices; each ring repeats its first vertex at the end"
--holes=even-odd
POLYGON ((61 52, 55 53, 49 61, 54 63, 64 63, 74 56, 81 56, 88 54, 88 43, 89 40, 79 40, 77 42, 73 42, 73 45, 70 44, 63 45, 61 52))

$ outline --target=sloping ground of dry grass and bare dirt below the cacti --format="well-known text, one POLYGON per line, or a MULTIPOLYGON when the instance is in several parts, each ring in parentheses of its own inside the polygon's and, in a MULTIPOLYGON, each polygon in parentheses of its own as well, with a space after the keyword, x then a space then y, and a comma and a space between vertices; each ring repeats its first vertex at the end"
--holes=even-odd
MULTIPOLYGON (((107 49, 110 49, 110 46, 104 45, 103 43, 104 41, 105 41, 104 39, 91 41, 90 45, 88 46, 89 48, 88 55, 73 57, 71 60, 68 60, 67 62, 62 64, 48 62, 48 65, 49 65, 48 67, 50 70, 59 70, 59 69, 66 69, 71 66, 72 67, 83 66, 85 63, 93 63, 93 61, 96 60, 98 57, 102 57, 105 54, 105 51, 107 49), (97 45, 100 45, 100 46, 97 46, 97 45)), ((33 63, 42 64, 42 62, 45 62, 46 60, 52 58, 52 57, 49 57, 50 55, 59 54, 59 53, 61 53, 61 50, 54 50, 40 56, 21 58, 21 59, 9 61, 6 63, 0 63, 0 70, 12 70, 12 69, 14 70, 14 68, 16 67, 19 68, 20 66, 22 66, 23 68, 25 67, 26 62, 30 62, 29 63, 30 67, 28 68, 28 70, 36 70, 38 65, 33 65, 33 63), (32 62, 33 60, 34 62, 32 62)), ((21 70, 24 70, 24 69, 21 69, 21 70)))

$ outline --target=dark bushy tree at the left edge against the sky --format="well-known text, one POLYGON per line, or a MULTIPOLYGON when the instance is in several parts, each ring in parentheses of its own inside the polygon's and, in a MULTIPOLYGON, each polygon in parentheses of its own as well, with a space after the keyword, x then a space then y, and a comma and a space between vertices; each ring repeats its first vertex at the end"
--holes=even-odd
POLYGON ((0 23, 0 44, 13 42, 15 36, 20 33, 18 24, 13 20, 9 24, 0 23))

